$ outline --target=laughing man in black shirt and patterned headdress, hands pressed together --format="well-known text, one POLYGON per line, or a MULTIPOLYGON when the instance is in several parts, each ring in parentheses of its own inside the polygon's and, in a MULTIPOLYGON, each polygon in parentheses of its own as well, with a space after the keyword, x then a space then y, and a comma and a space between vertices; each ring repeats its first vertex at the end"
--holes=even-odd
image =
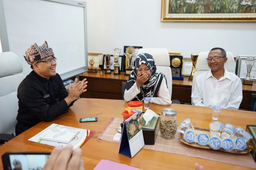
POLYGON ((60 75, 56 73, 53 50, 47 42, 40 47, 31 45, 26 51, 25 60, 33 69, 18 86, 18 115, 16 135, 26 131, 40 121, 51 121, 68 112, 73 102, 86 91, 86 79, 75 79, 67 92, 60 75))

